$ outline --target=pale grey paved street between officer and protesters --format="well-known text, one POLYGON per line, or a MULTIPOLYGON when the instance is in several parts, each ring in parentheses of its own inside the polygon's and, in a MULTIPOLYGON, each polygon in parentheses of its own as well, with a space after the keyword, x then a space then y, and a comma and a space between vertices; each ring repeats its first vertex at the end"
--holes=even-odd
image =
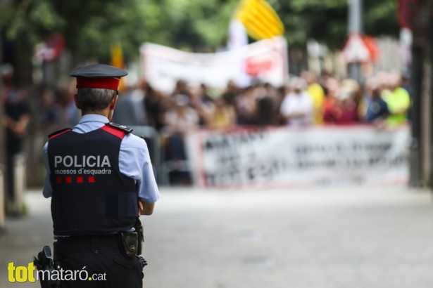
MULTIPOLYGON (((145 226, 149 288, 431 288, 433 202, 406 187, 286 190, 164 188, 145 226)), ((52 244, 49 200, 7 219, 7 263, 27 266, 52 244)))

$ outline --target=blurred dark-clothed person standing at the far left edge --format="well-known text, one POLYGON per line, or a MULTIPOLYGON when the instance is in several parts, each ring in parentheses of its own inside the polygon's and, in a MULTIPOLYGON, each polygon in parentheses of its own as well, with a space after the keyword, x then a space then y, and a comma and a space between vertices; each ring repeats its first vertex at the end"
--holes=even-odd
POLYGON ((14 197, 14 169, 13 159, 19 152, 23 152, 25 132, 30 122, 30 106, 27 103, 27 93, 13 83, 13 66, 1 65, 1 76, 4 90, 1 100, 4 105, 3 124, 6 132, 6 202, 13 202, 14 197))

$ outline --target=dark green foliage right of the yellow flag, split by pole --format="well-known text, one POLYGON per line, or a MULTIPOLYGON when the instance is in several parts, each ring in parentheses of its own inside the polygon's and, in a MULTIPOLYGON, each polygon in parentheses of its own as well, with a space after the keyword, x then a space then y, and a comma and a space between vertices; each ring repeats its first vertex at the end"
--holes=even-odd
MULTIPOLYGON (((348 33, 348 0, 270 1, 278 7, 289 45, 316 39, 332 49, 344 45, 348 33)), ((363 32, 396 36, 396 0, 363 0, 363 32)))

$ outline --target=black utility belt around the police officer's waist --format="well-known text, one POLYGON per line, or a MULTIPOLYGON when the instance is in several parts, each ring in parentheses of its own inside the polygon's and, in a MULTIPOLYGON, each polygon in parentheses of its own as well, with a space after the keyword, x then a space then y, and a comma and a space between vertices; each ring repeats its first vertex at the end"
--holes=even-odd
POLYGON ((137 256, 137 249, 139 244, 137 232, 120 232, 108 235, 80 235, 59 237, 57 242, 61 249, 65 251, 78 252, 86 251, 88 249, 120 249, 127 257, 137 256))

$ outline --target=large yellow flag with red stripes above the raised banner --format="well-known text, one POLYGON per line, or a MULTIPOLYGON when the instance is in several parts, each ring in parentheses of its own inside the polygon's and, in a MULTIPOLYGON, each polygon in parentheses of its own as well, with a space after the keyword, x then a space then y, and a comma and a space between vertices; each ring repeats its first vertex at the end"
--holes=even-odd
POLYGON ((243 0, 234 17, 244 24, 246 33, 253 39, 269 39, 284 34, 280 18, 264 0, 243 0))

